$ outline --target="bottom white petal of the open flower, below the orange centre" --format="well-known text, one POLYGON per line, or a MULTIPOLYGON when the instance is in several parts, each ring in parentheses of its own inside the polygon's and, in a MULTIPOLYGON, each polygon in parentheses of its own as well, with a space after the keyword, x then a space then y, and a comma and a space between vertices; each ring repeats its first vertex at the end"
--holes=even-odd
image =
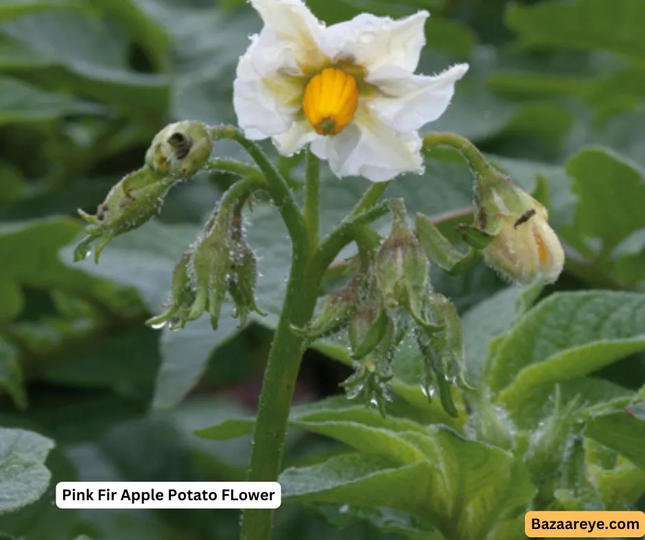
POLYGON ((417 133, 392 130, 365 106, 359 107, 342 132, 316 138, 311 148, 316 156, 329 161, 338 177, 360 175, 372 182, 384 182, 401 173, 423 172, 417 133))

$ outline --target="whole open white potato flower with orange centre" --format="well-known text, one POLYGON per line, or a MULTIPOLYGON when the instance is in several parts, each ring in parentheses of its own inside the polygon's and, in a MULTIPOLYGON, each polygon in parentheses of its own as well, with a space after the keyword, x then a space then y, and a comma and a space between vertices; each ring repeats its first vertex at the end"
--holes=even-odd
POLYGON ((429 14, 360 14, 326 27, 301 0, 251 0, 264 27, 237 66, 233 104, 250 139, 289 156, 311 143, 338 177, 421 173, 417 130, 438 119, 468 70, 414 75, 429 14))

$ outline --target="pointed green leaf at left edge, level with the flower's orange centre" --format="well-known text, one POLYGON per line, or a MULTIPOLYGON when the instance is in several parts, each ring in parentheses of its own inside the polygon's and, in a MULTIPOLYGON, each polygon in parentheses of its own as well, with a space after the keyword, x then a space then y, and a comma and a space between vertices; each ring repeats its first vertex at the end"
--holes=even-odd
POLYGON ((16 79, 0 77, 0 125, 42 122, 66 114, 98 114, 103 108, 76 97, 39 90, 16 79))

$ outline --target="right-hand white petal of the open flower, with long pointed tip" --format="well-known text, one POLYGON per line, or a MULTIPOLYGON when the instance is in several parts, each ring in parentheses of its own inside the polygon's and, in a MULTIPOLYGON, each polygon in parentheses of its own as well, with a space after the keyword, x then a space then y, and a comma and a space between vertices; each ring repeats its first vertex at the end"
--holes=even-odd
POLYGON ((382 95, 370 99, 379 119, 402 132, 418 130, 435 121, 448 107, 455 83, 468 71, 468 64, 457 64, 433 75, 410 75, 397 68, 381 68, 369 73, 366 81, 382 95))

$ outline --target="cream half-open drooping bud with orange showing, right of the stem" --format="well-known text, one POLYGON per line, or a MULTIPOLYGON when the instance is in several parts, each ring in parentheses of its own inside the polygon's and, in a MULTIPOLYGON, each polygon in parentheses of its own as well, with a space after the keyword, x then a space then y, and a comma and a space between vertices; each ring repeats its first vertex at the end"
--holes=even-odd
POLYGON ((486 264, 520 284, 557 280, 564 251, 546 208, 499 173, 481 180, 476 191, 480 228, 494 236, 482 251, 486 264))

